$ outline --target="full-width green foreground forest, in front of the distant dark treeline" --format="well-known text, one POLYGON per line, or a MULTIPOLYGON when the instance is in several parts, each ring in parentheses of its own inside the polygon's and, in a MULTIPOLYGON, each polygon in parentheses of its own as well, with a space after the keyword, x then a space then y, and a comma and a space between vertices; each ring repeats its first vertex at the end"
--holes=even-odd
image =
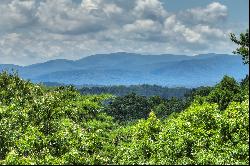
POLYGON ((249 164, 249 76, 162 98, 81 94, 3 71, 0 164, 249 164))

